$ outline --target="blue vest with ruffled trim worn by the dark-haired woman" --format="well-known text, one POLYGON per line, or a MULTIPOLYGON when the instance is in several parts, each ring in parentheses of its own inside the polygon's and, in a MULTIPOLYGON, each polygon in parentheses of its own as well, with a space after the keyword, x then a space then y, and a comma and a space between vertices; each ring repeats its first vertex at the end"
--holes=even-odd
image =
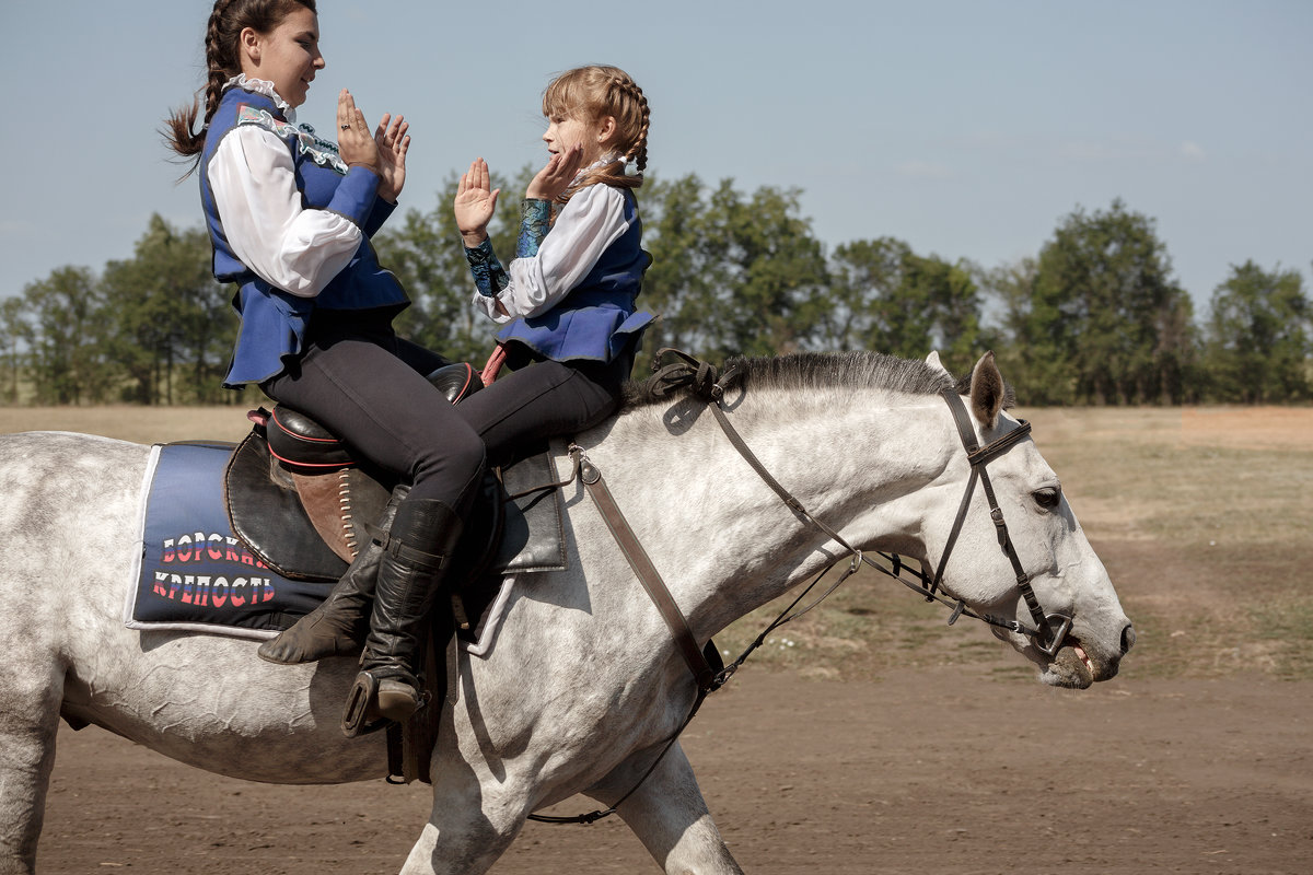
POLYGON ((410 299, 397 277, 378 264, 369 237, 391 215, 394 205, 377 195, 378 177, 364 168, 348 168, 332 143, 320 140, 309 125, 293 127, 277 105, 256 92, 228 88, 210 119, 201 153, 201 203, 214 247, 214 278, 240 287, 232 307, 242 317, 232 362, 223 379, 227 388, 260 383, 286 367, 301 353, 306 325, 316 307, 326 310, 389 308, 400 312, 410 299), (209 165, 223 138, 239 125, 260 125, 277 134, 291 152, 297 188, 306 209, 331 210, 351 219, 365 234, 351 262, 315 298, 274 289, 232 252, 210 189, 209 165))

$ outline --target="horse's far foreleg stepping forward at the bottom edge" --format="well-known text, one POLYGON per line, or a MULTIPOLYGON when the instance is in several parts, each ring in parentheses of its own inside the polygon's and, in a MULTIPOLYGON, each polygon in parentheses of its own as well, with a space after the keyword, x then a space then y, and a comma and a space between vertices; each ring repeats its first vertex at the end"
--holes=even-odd
MULTIPOLYGON (((588 795, 614 804, 642 778, 653 756, 645 752, 630 757, 588 795)), ((706 811, 693 767, 679 744, 620 803, 617 813, 667 875, 743 875, 706 811)))

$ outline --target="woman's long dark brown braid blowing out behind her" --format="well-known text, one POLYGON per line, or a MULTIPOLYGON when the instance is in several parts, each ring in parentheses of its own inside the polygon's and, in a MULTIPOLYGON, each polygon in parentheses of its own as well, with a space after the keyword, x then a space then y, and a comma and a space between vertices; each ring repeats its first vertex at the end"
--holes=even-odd
POLYGON ((164 143, 184 159, 192 159, 184 178, 196 171, 205 147, 205 134, 210 119, 219 108, 223 85, 242 72, 239 54, 242 31, 247 28, 256 33, 269 33, 277 28, 297 7, 310 12, 315 0, 215 0, 210 10, 210 21, 205 28, 205 88, 198 92, 190 106, 175 110, 164 119, 164 143), (205 114, 201 117, 201 130, 196 130, 196 119, 201 115, 201 94, 205 96, 205 114))

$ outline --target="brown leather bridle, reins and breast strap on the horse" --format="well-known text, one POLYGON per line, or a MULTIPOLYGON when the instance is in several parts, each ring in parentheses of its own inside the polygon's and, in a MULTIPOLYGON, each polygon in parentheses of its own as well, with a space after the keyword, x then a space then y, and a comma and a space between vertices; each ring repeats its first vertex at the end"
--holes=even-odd
POLYGON ((823 523, 821 519, 817 519, 814 516, 811 516, 811 513, 805 506, 802 506, 802 502, 800 502, 788 489, 784 488, 784 485, 780 484, 779 480, 776 480, 771 475, 769 471, 767 471, 765 466, 762 464, 762 460, 756 458, 751 447, 747 446, 742 436, 739 436, 738 430, 729 421, 729 417, 723 409, 723 396, 725 396, 723 383, 727 382, 729 378, 735 374, 734 370, 727 371, 723 378, 717 379, 717 371, 714 367, 712 367, 706 362, 693 358, 692 356, 688 356, 687 353, 671 348, 658 350, 655 362, 656 362, 654 365, 655 375, 650 380, 650 386, 653 386, 651 392, 654 396, 664 397, 676 390, 689 388, 692 395, 700 397, 706 403, 712 413, 716 416, 716 421, 720 424, 721 430, 725 433, 725 437, 729 438, 730 443, 739 453, 739 455, 743 457, 743 459, 752 467, 752 470, 756 471, 758 476, 762 478, 762 480, 780 497, 780 500, 784 501, 784 504, 796 516, 801 517, 802 519, 809 522, 813 527, 818 529, 822 534, 825 534, 827 538, 838 543, 847 552, 843 556, 835 559, 835 561, 830 563, 830 565, 827 565, 821 572, 821 575, 818 575, 802 590, 802 593, 793 601, 793 603, 790 603, 789 607, 786 607, 765 628, 765 631, 763 631, 756 638, 756 640, 743 652, 743 655, 739 656, 739 659, 737 659, 733 664, 730 664, 726 668, 713 641, 708 641, 705 648, 697 645, 697 639, 693 636, 692 628, 688 626, 687 618, 679 609, 679 605, 675 602, 675 598, 670 594, 670 589, 662 580, 660 572, 656 571, 656 567, 647 556, 647 551, 643 550, 643 546, 642 543, 639 543, 638 537, 634 534, 634 530, 629 526, 629 522, 625 519, 624 513, 620 510, 620 505, 611 495, 611 489, 607 488, 607 483, 601 476, 601 471, 599 471, 597 467, 588 460, 587 455, 584 455, 583 447, 571 443, 569 451, 570 451, 570 458, 574 462, 574 475, 562 483, 549 484, 548 487, 541 487, 541 488, 563 487, 571 483, 575 479, 575 476, 578 476, 583 481, 588 495, 593 500, 593 504, 596 504, 597 506, 599 514, 607 523, 607 527, 611 530, 611 534, 616 539, 616 543, 620 546, 621 552, 625 555, 625 559, 629 561, 629 565, 638 576, 638 580, 642 582, 643 589, 647 592, 647 596, 651 598, 653 603, 660 613, 662 619, 664 619, 666 626, 670 628, 671 636, 675 640, 675 645, 679 649, 680 656, 688 665, 688 669, 693 676, 693 680, 697 682, 697 698, 695 699, 693 707, 689 711, 688 716, 680 724, 679 729, 675 731, 675 735, 672 735, 666 741, 666 745, 662 748, 660 753, 656 756, 653 765, 638 779, 638 783, 635 783, 634 787, 630 788, 629 792, 626 792, 624 796, 621 796, 620 800, 617 800, 613 805, 611 805, 605 811, 593 811, 591 813, 579 815, 576 817, 553 817, 546 815, 529 815, 529 820, 536 820, 540 823, 550 823, 550 824, 591 824, 603 817, 616 813, 616 809, 626 799, 629 799, 629 796, 633 795, 633 792, 637 791, 638 787, 642 786, 642 783, 647 779, 647 777, 656 769, 656 766, 664 758, 670 748, 674 746, 675 741, 684 732, 684 729, 688 727, 692 719, 697 715, 697 710, 701 707, 706 697, 710 693, 714 693, 716 690, 721 689, 730 680, 730 677, 734 676, 738 668, 743 665, 743 662, 747 660, 747 657, 765 641, 767 635, 773 630, 779 628, 780 626, 783 626, 784 623, 788 623, 801 617, 802 614, 807 613, 809 610, 819 605, 822 601, 825 601, 825 598, 829 597, 830 593, 838 589, 838 586, 844 580, 847 580, 857 571, 857 568, 860 568, 861 563, 865 563, 871 568, 910 586, 911 589, 920 593, 927 602, 937 601, 945 606, 952 607, 952 615, 948 619, 949 626, 956 623, 960 617, 970 617, 973 619, 979 619, 990 626, 997 626, 1001 628, 1006 628, 1011 632, 1019 632, 1022 635, 1027 635, 1028 638, 1032 639, 1032 643, 1037 649, 1049 656, 1053 656, 1054 653, 1057 653, 1058 648, 1061 648, 1064 639, 1066 638, 1067 632, 1071 628, 1071 618, 1060 614, 1046 614, 1040 607, 1039 600, 1035 596, 1035 590, 1031 588, 1031 576, 1024 571, 1022 560, 1016 555, 1016 548, 1012 544, 1012 539, 1008 537, 1007 523, 1003 521, 1003 512, 998 505, 998 500, 994 495, 994 487, 990 483, 989 472, 986 470, 986 466, 989 464, 990 460, 998 458, 999 455, 1003 455, 1010 449, 1020 443, 1023 438, 1029 436, 1031 433, 1029 422, 1027 422, 1025 420, 1020 420, 1019 428, 1012 429, 1011 432, 1002 436, 997 441, 982 447, 979 442, 976 439, 976 429, 972 424, 970 416, 966 413, 966 408, 962 404, 961 397, 952 387, 940 390, 939 392, 940 396, 945 400, 949 411, 953 415, 953 422, 957 426, 958 437, 962 441, 962 447, 966 450, 966 458, 968 462, 970 463, 972 472, 970 478, 966 481, 966 491, 962 495, 961 504, 957 508, 957 517, 953 521, 953 527, 949 531, 948 540, 944 544, 944 552, 939 558, 939 565, 935 569, 934 577, 928 577, 924 569, 922 568, 914 572, 919 579, 916 582, 914 582, 902 577, 901 571, 903 565, 902 565, 902 559, 898 555, 877 551, 877 555, 890 564, 889 568, 873 561, 867 552, 853 547, 847 540, 844 540, 844 538, 838 531, 835 531, 834 529, 823 523), (659 362, 666 353, 676 356, 680 361, 672 365, 667 365, 664 367, 659 366, 659 362), (1020 621, 1016 619, 1007 619, 1002 617, 994 617, 990 614, 977 614, 970 607, 968 607, 964 601, 949 600, 940 594, 944 568, 947 567, 948 556, 952 554, 953 546, 957 543, 957 538, 961 534, 961 529, 966 519, 966 512, 968 508, 970 506, 972 495, 974 493, 977 481, 981 483, 986 500, 989 501, 990 519, 993 519, 994 522, 999 547, 1007 555, 1008 560, 1012 564, 1012 569, 1016 573, 1016 588, 1023 601, 1025 602, 1027 609, 1031 613, 1031 618, 1035 621, 1033 627, 1027 626, 1025 623, 1022 623, 1020 621), (811 589, 821 581, 821 579, 831 568, 834 568, 834 565, 836 565, 843 559, 848 558, 851 558, 851 563, 847 571, 844 571, 839 576, 839 579, 834 584, 831 584, 830 588, 825 593, 822 593, 815 601, 813 601, 802 610, 793 613, 793 609, 798 605, 798 602, 801 602, 807 596, 807 593, 811 592, 811 589))

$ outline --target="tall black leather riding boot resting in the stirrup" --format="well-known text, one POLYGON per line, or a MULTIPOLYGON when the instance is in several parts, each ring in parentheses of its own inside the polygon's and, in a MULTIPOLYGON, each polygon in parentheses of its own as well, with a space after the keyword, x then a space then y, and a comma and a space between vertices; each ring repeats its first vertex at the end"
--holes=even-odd
POLYGON ((462 527, 461 517, 433 499, 411 499, 397 509, 378 568, 361 672, 343 714, 348 739, 389 720, 402 723, 424 703, 415 665, 462 527))

